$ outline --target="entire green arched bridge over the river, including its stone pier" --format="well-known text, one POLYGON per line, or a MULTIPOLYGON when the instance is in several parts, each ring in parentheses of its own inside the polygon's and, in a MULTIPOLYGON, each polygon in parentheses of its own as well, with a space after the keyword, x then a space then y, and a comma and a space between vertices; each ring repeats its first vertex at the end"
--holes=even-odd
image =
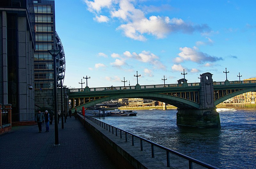
POLYGON ((104 101, 121 98, 142 98, 161 101, 178 107, 177 125, 220 128, 216 105, 245 92, 256 91, 256 80, 213 82, 212 74, 201 75, 199 83, 139 85, 70 89, 71 108, 78 111, 104 101))

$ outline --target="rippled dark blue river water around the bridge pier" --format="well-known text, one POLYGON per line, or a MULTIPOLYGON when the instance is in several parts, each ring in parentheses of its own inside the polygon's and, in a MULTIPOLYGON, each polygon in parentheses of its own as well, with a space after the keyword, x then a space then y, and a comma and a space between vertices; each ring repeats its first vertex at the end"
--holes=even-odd
POLYGON ((218 168, 256 168, 256 109, 217 111, 221 129, 178 127, 176 109, 137 110, 137 116, 100 121, 218 168))

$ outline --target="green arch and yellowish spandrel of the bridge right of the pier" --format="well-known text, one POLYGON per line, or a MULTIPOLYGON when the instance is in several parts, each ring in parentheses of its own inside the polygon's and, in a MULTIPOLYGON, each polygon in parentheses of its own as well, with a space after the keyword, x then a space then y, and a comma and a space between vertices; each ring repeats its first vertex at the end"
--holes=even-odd
POLYGON ((215 106, 217 106, 218 104, 220 104, 221 102, 230 99, 232 97, 235 97, 239 94, 243 94, 246 92, 255 92, 256 91, 256 87, 253 88, 249 88, 249 89, 236 89, 234 90, 234 92, 232 92, 232 90, 214 90, 214 97, 215 97, 215 101, 214 104, 215 106), (228 91, 231 91, 230 93, 228 91), (217 96, 221 96, 218 97, 219 99, 216 99, 217 96))

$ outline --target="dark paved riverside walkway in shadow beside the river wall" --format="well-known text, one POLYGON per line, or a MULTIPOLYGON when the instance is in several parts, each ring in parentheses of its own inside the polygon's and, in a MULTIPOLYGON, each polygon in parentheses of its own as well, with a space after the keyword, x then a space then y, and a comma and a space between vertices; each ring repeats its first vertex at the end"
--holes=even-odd
POLYGON ((0 168, 95 168, 115 169, 90 133, 74 117, 59 128, 59 144, 54 145, 54 122, 50 131, 38 133, 37 125, 12 127, 0 135, 0 168))

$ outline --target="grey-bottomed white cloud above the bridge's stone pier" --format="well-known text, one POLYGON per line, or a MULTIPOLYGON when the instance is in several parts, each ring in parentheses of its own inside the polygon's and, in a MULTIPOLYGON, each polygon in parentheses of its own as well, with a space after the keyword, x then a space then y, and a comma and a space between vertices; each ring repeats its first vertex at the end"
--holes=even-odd
POLYGON ((173 61, 176 63, 181 63, 184 61, 192 61, 192 62, 196 62, 196 63, 204 63, 204 62, 216 62, 219 60, 222 60, 222 58, 220 57, 215 57, 215 56, 211 56, 208 55, 206 53, 197 51, 197 48, 188 48, 188 47, 184 47, 184 48, 180 48, 180 53, 178 58, 175 58, 173 61))

